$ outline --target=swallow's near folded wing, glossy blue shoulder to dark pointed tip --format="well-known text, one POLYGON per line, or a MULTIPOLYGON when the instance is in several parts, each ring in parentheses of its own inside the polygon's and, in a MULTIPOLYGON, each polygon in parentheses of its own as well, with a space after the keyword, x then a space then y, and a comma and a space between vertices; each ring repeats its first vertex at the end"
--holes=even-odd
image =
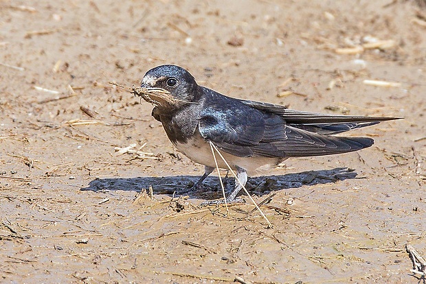
MULTIPOLYGON (((373 122, 368 123, 371 125, 373 122)), ((373 144, 370 138, 329 135, 357 126, 366 125, 328 121, 306 125, 288 124, 283 115, 265 112, 247 104, 234 106, 229 111, 223 107, 220 110, 210 108, 199 120, 201 136, 229 154, 282 158, 341 154, 370 147, 373 144)))

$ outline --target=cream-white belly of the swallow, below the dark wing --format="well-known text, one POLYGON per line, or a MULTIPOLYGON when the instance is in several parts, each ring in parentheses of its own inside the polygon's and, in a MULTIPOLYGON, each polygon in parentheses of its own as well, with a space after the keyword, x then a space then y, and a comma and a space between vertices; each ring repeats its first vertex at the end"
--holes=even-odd
MULTIPOLYGON (((179 152, 182 152, 192 161, 208 167, 216 167, 210 144, 202 137, 188 139, 186 143, 177 142, 173 144, 177 147, 179 152)), ((257 170, 269 169, 270 167, 276 166, 285 160, 285 158, 270 158, 262 156, 238 157, 223 151, 220 152, 233 169, 235 169, 236 166, 242 167, 249 175, 254 174, 257 170)), ((217 152, 215 152, 215 156, 218 167, 228 169, 227 165, 217 152)))

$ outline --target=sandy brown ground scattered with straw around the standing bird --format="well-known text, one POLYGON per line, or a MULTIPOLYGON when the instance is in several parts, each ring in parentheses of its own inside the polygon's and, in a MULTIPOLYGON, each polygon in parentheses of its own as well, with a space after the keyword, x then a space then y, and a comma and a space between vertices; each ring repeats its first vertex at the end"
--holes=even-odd
POLYGON ((417 283, 405 245, 426 255, 426 10, 338 3, 0 1, 0 282, 417 283), (390 41, 359 49, 375 40, 390 41), (249 203, 199 206, 221 198, 217 176, 190 191, 203 167, 108 84, 165 63, 234 97, 405 119, 354 132, 375 139, 361 152, 251 178, 257 202, 271 197, 266 228, 249 203), (153 155, 115 152, 133 143, 153 155))

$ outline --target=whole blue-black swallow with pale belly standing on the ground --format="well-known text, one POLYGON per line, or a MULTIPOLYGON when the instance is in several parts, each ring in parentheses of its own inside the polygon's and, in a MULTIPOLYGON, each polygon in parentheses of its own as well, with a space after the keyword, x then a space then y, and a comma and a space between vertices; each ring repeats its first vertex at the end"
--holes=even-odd
MULTIPOLYGON (((342 154, 370 147, 374 143, 371 138, 335 134, 399 119, 310 113, 227 97, 199 86, 186 69, 176 65, 150 69, 139 90, 135 95, 153 104, 153 117, 162 123, 177 150, 205 165, 205 173, 193 189, 198 189, 215 167, 209 142, 218 147, 240 180, 236 180, 227 202, 235 200, 247 174, 256 169, 276 166, 290 157, 342 154)), ((227 169, 220 158, 217 161, 218 167, 227 169)))

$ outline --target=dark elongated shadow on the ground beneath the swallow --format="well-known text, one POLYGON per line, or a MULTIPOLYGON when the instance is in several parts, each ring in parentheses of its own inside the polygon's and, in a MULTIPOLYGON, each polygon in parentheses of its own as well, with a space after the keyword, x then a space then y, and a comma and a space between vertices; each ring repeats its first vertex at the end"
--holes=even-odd
MULTIPOLYGON (((258 196, 280 189, 295 189, 302 185, 318 185, 338 180, 356 178, 357 173, 353 169, 337 167, 335 169, 323 169, 319 171, 303 171, 296 174, 284 174, 277 176, 256 176, 249 178, 246 188, 250 193, 258 196)), ((141 191, 153 187, 155 194, 188 195, 191 198, 217 199, 222 197, 221 185, 217 176, 209 176, 203 182, 199 190, 191 187, 200 176, 164 176, 164 177, 137 177, 137 178, 96 178, 82 191, 141 191)), ((232 191, 234 178, 225 178, 227 191, 232 191)))

